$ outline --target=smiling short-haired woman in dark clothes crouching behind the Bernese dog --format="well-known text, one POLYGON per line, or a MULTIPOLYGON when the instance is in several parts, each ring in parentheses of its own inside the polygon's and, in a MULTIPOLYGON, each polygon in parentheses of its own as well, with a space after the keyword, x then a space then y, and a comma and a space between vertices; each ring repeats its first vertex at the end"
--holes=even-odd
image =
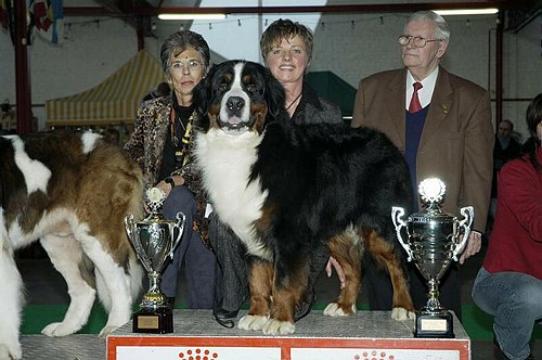
MULTIPOLYGON (((285 108, 289 121, 297 126, 306 124, 337 124, 345 126, 339 107, 320 98, 305 81, 307 67, 312 59, 312 33, 291 20, 278 20, 263 31, 260 40, 261 55, 266 66, 285 91, 285 108)), ((224 326, 233 326, 238 309, 248 297, 246 250, 241 240, 212 216, 209 224, 209 241, 221 267, 217 277, 219 299, 215 306, 215 318, 224 326)), ((305 303, 296 308, 296 320, 309 313, 314 301, 313 285, 319 273, 330 259, 330 249, 323 246, 314 252, 317 261, 311 263, 310 293, 305 303)))

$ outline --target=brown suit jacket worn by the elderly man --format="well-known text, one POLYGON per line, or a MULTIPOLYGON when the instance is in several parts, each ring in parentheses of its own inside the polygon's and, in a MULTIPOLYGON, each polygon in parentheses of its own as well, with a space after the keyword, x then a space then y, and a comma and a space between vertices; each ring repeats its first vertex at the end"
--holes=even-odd
MULTIPOLYGON (((405 82, 406 68, 362 79, 351 124, 379 129, 403 152, 405 82)), ((439 177, 447 185, 443 209, 462 218, 460 208, 474 206, 474 229, 480 232, 488 215, 493 142, 488 91, 440 67, 420 140, 416 179, 439 177)))

